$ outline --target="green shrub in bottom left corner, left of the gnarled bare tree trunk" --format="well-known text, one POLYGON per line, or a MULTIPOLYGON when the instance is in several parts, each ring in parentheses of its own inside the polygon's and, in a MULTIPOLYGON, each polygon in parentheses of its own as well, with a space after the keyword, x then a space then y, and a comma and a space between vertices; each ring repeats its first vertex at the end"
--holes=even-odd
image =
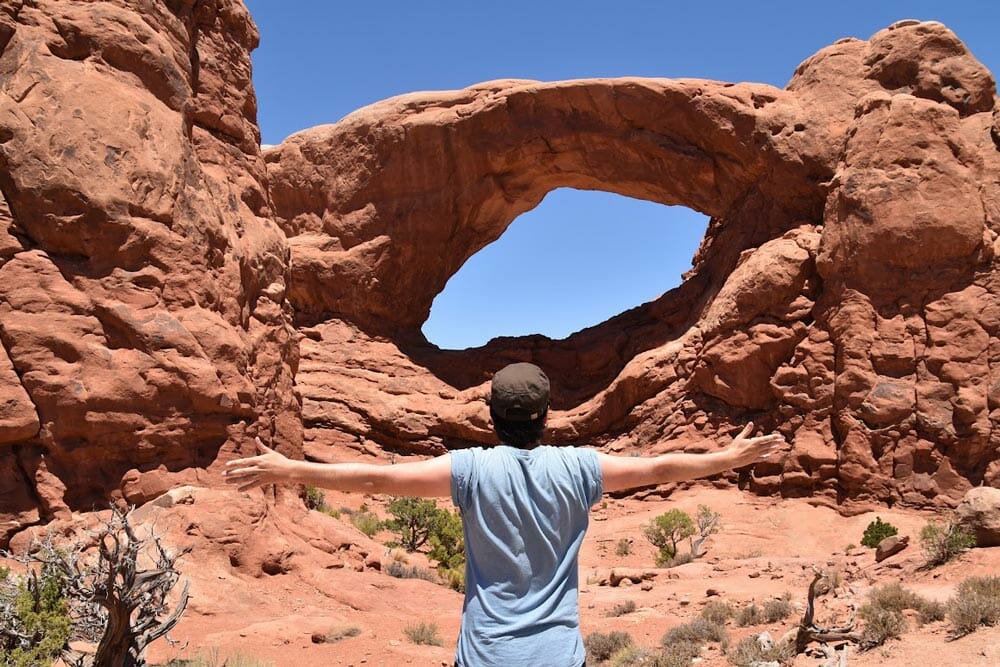
POLYGON ((69 642, 66 578, 51 565, 0 585, 0 659, 7 667, 51 663, 69 642))

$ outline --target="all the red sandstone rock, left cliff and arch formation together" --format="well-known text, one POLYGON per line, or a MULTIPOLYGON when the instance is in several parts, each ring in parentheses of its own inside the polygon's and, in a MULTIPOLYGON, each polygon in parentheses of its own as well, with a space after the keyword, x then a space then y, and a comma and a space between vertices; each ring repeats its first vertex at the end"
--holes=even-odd
POLYGON ((1000 485, 1000 115, 944 26, 841 40, 784 90, 405 95, 263 156, 257 39, 236 0, 0 2, 0 543, 214 484, 258 433, 491 441, 489 376, 523 360, 556 443, 706 447, 752 418, 793 443, 759 493, 1000 485), (565 340, 428 344, 447 280, 558 187, 710 215, 685 283, 565 340))

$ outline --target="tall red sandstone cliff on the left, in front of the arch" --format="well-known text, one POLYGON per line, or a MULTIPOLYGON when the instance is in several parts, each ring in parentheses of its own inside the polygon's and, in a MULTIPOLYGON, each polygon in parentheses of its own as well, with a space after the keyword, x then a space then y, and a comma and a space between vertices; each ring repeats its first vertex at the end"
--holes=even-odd
POLYGON ((299 450, 257 39, 230 0, 0 2, 0 544, 299 450))

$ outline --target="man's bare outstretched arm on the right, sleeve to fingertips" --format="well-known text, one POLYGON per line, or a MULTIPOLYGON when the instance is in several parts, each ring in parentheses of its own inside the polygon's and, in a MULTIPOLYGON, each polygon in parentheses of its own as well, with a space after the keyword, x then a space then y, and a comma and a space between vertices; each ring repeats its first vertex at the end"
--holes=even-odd
POLYGON ((752 432, 753 424, 747 424, 729 447, 710 454, 677 452, 653 458, 598 454, 604 490, 624 491, 640 486, 710 477, 766 459, 785 447, 785 439, 781 435, 751 438, 749 435, 752 432))

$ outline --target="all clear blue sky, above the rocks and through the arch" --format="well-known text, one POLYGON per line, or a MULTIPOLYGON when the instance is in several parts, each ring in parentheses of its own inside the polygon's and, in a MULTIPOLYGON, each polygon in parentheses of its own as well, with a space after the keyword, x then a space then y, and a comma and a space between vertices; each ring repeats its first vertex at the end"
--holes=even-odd
MULTIPOLYGON (((841 37, 867 39, 902 18, 945 23, 1000 72, 993 0, 247 5, 261 33, 254 84, 267 144, 394 95, 499 78, 699 77, 783 87, 820 48, 841 37)), ((443 348, 500 335, 563 338, 679 284, 706 223, 679 207, 556 190, 451 279, 424 333, 443 348), (538 274, 520 290, 508 274, 495 289, 493 276, 515 256, 538 274)))

